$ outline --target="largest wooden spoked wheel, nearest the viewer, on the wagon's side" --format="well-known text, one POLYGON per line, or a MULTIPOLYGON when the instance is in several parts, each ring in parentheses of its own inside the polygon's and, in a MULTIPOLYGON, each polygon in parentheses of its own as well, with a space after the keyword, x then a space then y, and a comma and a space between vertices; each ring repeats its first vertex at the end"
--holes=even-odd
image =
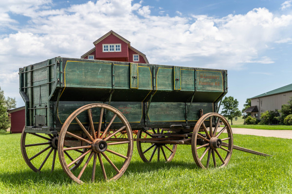
POLYGON ((120 178, 128 168, 132 152, 133 137, 128 120, 121 112, 107 104, 88 104, 78 108, 67 118, 60 131, 58 140, 58 156, 60 163, 65 173, 79 184, 82 184, 83 181, 91 180, 93 182, 96 176, 103 177, 106 180, 120 178), (107 112, 107 115, 111 119, 107 122, 106 128, 102 129, 105 112, 107 112), (98 116, 94 116, 95 114, 93 113, 98 113, 98 116), (89 124, 87 124, 89 127, 87 129, 89 129, 90 132, 86 129, 86 125, 80 121, 84 116, 89 120, 89 124), (87 138, 76 135, 76 130, 70 129, 70 124, 73 122, 78 123, 80 130, 86 134, 87 138), (96 123, 98 123, 98 126, 95 126, 97 132, 95 132, 94 129, 94 124, 96 123), (112 127, 113 123, 118 123, 119 127, 112 127), (115 134, 124 129, 127 130, 127 138, 116 138, 115 134), (68 138, 75 139, 76 142, 79 141, 82 143, 81 146, 65 147, 65 140, 68 138), (64 153, 78 149, 87 149, 87 151, 79 157, 75 156, 73 160, 68 159, 68 157, 66 158, 64 153), (70 170, 70 166, 72 166, 74 162, 86 156, 88 157, 81 170, 70 170), (90 167, 91 159, 93 159, 93 162, 90 167), (112 162, 112 160, 115 161, 112 162), (101 166, 100 171, 96 170, 97 161, 101 166))

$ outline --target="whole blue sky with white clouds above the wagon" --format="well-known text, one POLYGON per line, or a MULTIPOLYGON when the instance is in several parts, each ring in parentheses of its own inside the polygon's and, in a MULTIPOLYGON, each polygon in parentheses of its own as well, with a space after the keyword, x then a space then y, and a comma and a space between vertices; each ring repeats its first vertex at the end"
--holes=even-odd
POLYGON ((292 83, 292 0, 14 0, 0 2, 0 87, 18 68, 80 58, 113 30, 149 63, 228 70, 239 101, 292 83))

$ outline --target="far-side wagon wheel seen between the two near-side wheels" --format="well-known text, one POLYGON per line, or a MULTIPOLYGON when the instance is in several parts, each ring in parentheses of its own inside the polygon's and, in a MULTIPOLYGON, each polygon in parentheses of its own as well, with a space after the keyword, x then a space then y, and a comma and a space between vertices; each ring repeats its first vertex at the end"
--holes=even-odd
POLYGON ((157 138, 152 137, 153 134, 162 134, 166 133, 168 131, 163 129, 151 129, 148 131, 139 130, 137 133, 137 148, 138 153, 141 157, 141 159, 144 162, 152 162, 153 158, 155 161, 159 162, 160 160, 163 160, 165 162, 170 162, 176 152, 177 145, 167 145, 167 144, 161 144, 161 143, 145 143, 143 142, 145 140, 151 140, 151 138, 157 138), (171 147, 171 148, 170 148, 171 147))

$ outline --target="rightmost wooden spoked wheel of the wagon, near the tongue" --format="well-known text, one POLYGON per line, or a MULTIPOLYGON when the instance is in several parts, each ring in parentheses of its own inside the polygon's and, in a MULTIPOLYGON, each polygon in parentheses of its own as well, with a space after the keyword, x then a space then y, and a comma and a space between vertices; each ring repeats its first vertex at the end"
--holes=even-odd
POLYGON ((233 135, 228 121, 219 113, 202 115, 194 127, 191 144, 194 160, 201 168, 210 166, 211 155, 214 167, 226 166, 233 149, 233 135), (212 121, 216 124, 214 128, 212 121), (220 121, 223 126, 219 127, 220 121), (208 128, 205 125, 207 122, 208 128))

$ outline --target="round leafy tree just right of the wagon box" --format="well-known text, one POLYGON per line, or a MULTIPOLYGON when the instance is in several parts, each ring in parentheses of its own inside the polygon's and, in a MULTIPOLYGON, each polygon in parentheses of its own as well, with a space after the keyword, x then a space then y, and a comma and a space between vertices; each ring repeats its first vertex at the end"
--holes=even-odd
POLYGON ((237 99, 234 99, 234 97, 225 97, 222 100, 222 112, 221 114, 228 118, 231 121, 231 125, 233 118, 240 116, 241 113, 238 109, 238 101, 237 99))

